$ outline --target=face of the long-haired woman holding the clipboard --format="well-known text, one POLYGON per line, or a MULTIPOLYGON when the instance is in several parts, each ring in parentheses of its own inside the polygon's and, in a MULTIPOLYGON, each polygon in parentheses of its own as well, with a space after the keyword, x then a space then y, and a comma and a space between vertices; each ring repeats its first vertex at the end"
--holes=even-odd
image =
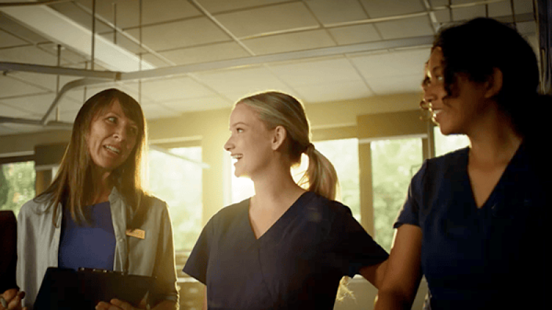
POLYGON ((138 127, 123 112, 119 101, 114 101, 92 118, 86 144, 90 159, 104 172, 112 172, 123 164, 138 136, 138 127))

